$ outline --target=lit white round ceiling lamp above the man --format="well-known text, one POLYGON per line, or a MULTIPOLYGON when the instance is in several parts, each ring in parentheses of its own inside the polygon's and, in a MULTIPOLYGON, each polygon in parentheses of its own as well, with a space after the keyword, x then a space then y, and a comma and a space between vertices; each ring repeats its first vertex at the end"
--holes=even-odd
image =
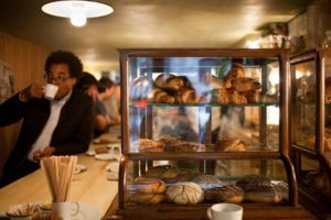
POLYGON ((70 18, 75 26, 84 26, 87 18, 98 18, 110 14, 114 9, 95 1, 53 1, 42 7, 42 11, 62 18, 70 18))

